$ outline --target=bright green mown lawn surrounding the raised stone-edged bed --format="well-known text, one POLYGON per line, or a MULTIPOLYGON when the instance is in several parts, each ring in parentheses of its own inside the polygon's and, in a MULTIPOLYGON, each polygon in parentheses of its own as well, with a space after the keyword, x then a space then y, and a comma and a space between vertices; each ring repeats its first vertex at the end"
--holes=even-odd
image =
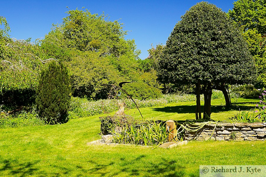
MULTIPOLYGON (((257 102, 240 101, 247 109, 257 102)), ((158 119, 193 118, 193 104, 144 108, 142 113, 158 119), (179 113, 174 112, 176 108, 179 113)), ((219 100, 213 101, 216 104, 219 106, 219 100)), ((219 111, 217 108, 212 114, 214 119, 234 112, 219 111)), ((61 125, 0 129, 0 176, 199 176, 199 165, 266 165, 266 143, 260 141, 193 141, 183 147, 153 150, 86 145, 100 139, 98 117, 72 119, 61 125)))

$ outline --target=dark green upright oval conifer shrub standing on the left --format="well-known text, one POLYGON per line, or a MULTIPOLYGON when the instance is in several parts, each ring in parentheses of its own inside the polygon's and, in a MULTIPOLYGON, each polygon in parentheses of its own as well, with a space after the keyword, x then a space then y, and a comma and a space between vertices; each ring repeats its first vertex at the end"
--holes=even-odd
POLYGON ((36 104, 48 124, 65 122, 70 104, 70 78, 63 63, 52 61, 40 73, 36 104))

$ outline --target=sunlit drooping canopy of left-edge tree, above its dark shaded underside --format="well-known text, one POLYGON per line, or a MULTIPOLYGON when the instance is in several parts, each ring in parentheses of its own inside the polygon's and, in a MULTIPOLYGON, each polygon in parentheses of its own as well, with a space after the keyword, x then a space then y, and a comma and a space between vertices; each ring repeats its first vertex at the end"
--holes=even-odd
POLYGON ((33 89, 45 56, 38 45, 11 39, 10 27, 4 17, 0 17, 1 24, 4 29, 0 29, 0 92, 33 89))

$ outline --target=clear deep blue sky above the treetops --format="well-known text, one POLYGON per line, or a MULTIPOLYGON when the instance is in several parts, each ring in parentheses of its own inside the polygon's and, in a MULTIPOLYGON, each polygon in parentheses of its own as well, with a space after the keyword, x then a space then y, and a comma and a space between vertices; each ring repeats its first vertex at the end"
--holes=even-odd
MULTIPOLYGON (((0 16, 4 16, 11 27, 11 37, 33 41, 44 37, 53 23, 61 23, 68 9, 89 9, 92 14, 108 14, 110 20, 124 23, 128 30, 126 39, 135 39, 141 50, 141 59, 148 56, 147 50, 156 44, 165 44, 176 22, 196 0, 176 1, 13 1, 0 0, 0 16)), ((233 0, 208 1, 228 12, 233 0)))

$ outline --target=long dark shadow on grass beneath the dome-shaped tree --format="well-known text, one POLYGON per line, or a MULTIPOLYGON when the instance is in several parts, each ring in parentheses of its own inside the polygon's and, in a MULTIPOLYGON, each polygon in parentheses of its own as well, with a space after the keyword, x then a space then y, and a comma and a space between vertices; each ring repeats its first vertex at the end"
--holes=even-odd
MULTIPOLYGON (((203 111, 203 106, 201 106, 201 110, 203 111)), ((232 106, 230 109, 226 109, 225 106, 211 106, 211 112, 218 113, 218 112, 226 112, 226 111, 239 111, 240 110, 250 110, 254 109, 255 106, 244 106, 244 105, 236 105, 232 106)), ((153 111, 158 112, 167 112, 167 113, 195 113, 196 106, 165 106, 162 108, 153 108, 153 111)))

